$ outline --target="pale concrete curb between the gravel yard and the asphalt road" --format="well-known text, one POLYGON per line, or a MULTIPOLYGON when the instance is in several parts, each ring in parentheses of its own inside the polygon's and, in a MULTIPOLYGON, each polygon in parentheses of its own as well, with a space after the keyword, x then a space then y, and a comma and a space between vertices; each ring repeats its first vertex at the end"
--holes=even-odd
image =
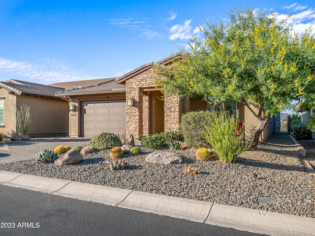
POLYGON ((271 236, 315 236, 315 218, 0 171, 0 184, 271 236))

